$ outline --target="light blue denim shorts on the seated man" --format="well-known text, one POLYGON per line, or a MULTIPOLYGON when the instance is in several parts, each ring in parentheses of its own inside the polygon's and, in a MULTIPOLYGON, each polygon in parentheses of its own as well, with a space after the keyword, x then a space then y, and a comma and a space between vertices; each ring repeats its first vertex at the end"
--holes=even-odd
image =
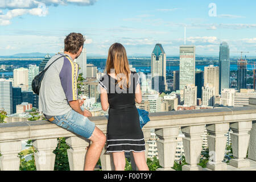
POLYGON ((90 138, 95 129, 94 122, 91 122, 87 117, 77 113, 73 109, 68 111, 66 114, 56 115, 53 118, 54 120, 52 121, 51 119, 51 123, 54 123, 57 126, 63 127, 64 129, 85 138, 90 138))

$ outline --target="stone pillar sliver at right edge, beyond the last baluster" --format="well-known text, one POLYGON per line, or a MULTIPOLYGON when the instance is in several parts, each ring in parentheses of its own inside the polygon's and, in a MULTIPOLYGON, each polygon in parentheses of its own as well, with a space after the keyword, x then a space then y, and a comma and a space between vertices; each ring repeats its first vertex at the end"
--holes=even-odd
POLYGON ((256 121, 253 121, 253 126, 250 131, 248 158, 256 161, 256 121))

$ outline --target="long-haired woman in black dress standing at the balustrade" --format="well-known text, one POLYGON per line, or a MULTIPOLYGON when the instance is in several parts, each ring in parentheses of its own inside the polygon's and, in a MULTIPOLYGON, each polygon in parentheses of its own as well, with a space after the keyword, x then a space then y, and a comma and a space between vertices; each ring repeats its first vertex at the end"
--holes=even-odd
POLYGON ((99 85, 102 109, 109 107, 106 152, 112 152, 115 170, 124 170, 125 152, 133 152, 138 169, 146 171, 145 141, 135 106, 142 101, 139 75, 130 71, 122 44, 109 48, 105 72, 99 85))

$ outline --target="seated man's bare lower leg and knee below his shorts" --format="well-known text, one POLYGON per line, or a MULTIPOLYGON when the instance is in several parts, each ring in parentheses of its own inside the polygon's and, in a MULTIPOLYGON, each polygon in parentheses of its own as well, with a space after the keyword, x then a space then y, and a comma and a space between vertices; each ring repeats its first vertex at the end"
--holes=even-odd
POLYGON ((100 158, 101 151, 105 146, 106 136, 96 126, 92 136, 90 136, 88 139, 91 140, 92 143, 86 152, 84 170, 93 171, 98 162, 98 159, 100 158))

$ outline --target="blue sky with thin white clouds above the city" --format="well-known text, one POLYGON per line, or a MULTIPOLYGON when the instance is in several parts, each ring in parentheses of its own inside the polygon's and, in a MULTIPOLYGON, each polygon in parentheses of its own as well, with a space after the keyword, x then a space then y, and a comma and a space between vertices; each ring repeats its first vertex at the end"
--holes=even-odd
POLYGON ((256 1, 0 0, 0 56, 57 53, 70 32, 85 35, 88 55, 108 55, 121 43, 127 55, 150 56, 156 43, 167 55, 195 45, 197 55, 256 55, 256 1))

